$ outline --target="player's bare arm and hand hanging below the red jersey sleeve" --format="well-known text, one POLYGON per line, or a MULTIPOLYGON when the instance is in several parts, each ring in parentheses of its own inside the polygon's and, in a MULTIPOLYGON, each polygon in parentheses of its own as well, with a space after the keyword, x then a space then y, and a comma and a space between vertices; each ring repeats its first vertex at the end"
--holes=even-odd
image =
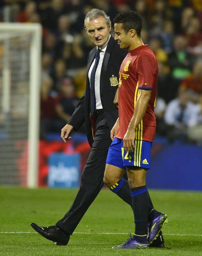
POLYGON ((143 116, 145 115, 149 100, 151 97, 151 90, 139 89, 139 96, 134 108, 133 117, 128 125, 128 129, 123 138, 123 147, 126 151, 133 152, 135 129, 138 127, 143 116))

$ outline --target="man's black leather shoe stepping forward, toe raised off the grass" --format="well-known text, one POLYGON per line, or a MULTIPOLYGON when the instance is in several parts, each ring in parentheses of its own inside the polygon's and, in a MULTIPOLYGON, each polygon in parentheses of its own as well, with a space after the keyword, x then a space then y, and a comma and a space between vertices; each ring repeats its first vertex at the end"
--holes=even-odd
POLYGON ((66 234, 57 226, 40 227, 35 223, 30 223, 31 227, 46 239, 53 241, 56 245, 67 245, 69 234, 66 234))

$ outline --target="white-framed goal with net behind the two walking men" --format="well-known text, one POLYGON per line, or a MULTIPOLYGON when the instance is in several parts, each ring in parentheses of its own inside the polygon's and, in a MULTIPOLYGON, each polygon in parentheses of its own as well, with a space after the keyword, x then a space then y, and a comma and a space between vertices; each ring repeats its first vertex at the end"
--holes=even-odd
POLYGON ((37 186, 41 26, 0 23, 0 184, 37 186))

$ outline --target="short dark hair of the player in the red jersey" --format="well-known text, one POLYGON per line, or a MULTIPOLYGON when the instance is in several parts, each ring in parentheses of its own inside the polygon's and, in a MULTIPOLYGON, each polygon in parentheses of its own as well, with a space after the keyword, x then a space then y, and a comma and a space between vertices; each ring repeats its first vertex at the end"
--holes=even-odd
POLYGON ((113 19, 114 23, 122 23, 123 30, 127 33, 130 29, 134 29, 140 37, 142 30, 142 18, 137 12, 125 11, 119 13, 113 19))

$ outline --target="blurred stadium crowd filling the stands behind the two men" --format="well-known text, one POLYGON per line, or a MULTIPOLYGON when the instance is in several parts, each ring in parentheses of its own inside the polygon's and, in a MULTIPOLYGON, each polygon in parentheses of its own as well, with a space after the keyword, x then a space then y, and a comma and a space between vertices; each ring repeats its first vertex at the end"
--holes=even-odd
POLYGON ((41 138, 60 134, 85 90, 87 55, 93 45, 83 21, 89 10, 98 8, 111 21, 129 9, 143 19, 141 37, 159 68, 157 135, 170 142, 202 143, 202 1, 3 0, 2 22, 5 8, 9 22, 37 22, 43 28, 41 138))

